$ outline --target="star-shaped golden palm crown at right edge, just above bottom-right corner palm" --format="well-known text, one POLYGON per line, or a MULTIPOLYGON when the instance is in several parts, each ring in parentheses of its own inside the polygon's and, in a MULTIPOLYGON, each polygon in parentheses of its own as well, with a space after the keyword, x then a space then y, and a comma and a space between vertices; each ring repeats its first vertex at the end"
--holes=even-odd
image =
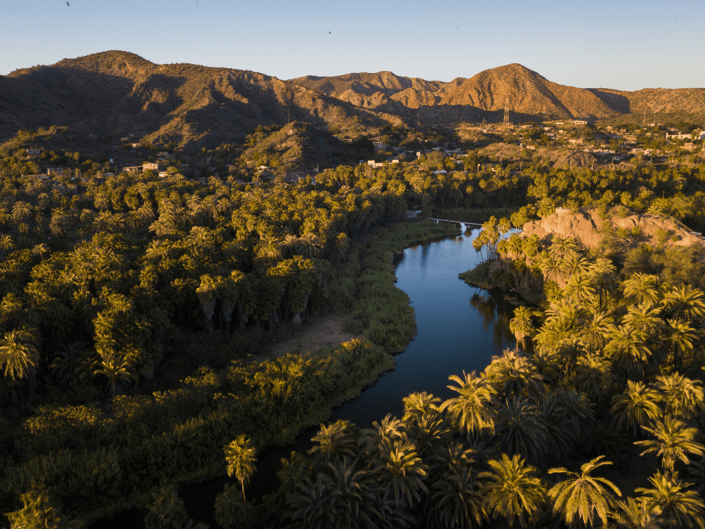
POLYGON ((634 444, 646 446, 646 450, 640 454, 642 456, 657 452, 656 455, 661 456, 663 468, 673 472, 673 466, 679 459, 687 465, 690 463, 687 454, 701 456, 705 451, 705 446, 693 440, 698 434, 697 428, 687 428, 685 426, 685 422, 682 420, 666 415, 663 422, 656 420, 654 427, 642 426, 646 432, 649 432, 656 439, 645 439, 634 444))

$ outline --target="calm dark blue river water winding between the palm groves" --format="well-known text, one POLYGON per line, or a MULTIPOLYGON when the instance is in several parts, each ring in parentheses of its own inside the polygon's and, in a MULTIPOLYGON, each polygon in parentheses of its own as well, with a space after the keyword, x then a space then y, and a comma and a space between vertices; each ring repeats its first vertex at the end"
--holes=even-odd
MULTIPOLYGON (((492 355, 515 345, 509 332, 512 305, 495 300, 487 291, 465 284, 458 274, 480 262, 472 248, 479 229, 455 238, 418 245, 404 250, 396 263, 397 286, 405 291, 416 312, 417 336, 396 357, 396 369, 384 373, 360 397, 333 411, 331 421, 347 419, 361 428, 371 427, 387 413, 403 414, 403 397, 427 391, 445 400, 455 393, 446 386, 449 375, 462 370, 483 370, 492 355)), ((290 451, 307 451, 312 428, 295 446, 267 449, 260 454, 257 472, 247 487, 249 498, 261 497, 278 486, 279 460, 290 451)), ((194 483, 180 492, 189 515, 196 521, 217 527, 213 519, 216 494, 228 478, 194 483)), ((130 509, 112 520, 101 520, 95 528, 142 528, 143 511, 130 509)))

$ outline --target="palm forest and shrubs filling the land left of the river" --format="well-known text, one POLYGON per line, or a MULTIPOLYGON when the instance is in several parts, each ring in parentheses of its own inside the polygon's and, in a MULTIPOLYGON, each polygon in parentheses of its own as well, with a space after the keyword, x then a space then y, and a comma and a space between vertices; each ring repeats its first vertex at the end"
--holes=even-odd
POLYGON ((41 485, 72 516, 142 505, 162 480, 221 473, 236 433, 290 442, 391 368, 415 326, 388 252, 455 233, 379 231, 405 212, 394 190, 4 178, 2 504, 41 485), (247 358, 342 309, 360 341, 247 358))

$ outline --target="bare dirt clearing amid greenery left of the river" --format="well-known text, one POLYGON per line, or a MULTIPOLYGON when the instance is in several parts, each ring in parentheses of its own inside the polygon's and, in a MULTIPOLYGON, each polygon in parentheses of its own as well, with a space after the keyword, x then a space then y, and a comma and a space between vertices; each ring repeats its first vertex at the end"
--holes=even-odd
POLYGON ((345 332, 343 329, 343 320, 347 316, 346 314, 334 314, 319 318, 314 322, 305 323, 295 336, 274 343, 266 353, 259 355, 257 360, 272 360, 296 351, 306 353, 307 351, 315 351, 323 346, 338 346, 344 341, 357 338, 355 334, 345 332))

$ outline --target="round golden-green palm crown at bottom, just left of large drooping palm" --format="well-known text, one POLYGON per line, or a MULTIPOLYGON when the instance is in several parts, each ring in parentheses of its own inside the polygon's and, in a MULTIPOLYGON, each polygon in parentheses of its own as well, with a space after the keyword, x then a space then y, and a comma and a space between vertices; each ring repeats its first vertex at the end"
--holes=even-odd
POLYGON ((494 518, 505 518, 510 527, 515 520, 525 527, 526 519, 536 516, 546 499, 537 469, 526 466, 519 454, 511 459, 502 454, 501 459, 491 459, 487 464, 491 471, 479 475, 486 480, 481 492, 485 509, 494 518))

